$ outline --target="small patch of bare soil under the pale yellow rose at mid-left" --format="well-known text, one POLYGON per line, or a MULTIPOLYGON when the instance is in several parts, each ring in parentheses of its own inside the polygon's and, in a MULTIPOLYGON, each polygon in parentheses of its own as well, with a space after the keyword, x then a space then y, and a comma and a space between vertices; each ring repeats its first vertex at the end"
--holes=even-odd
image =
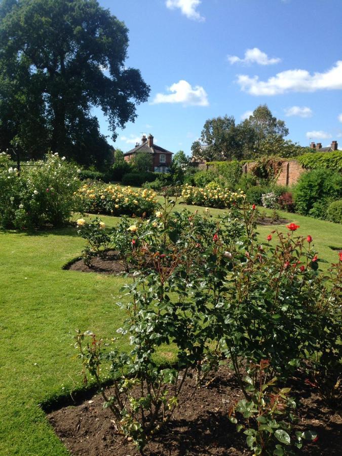
POLYGON ((125 272, 121 261, 118 259, 118 252, 114 250, 108 250, 105 257, 95 256, 91 268, 89 268, 81 258, 67 263, 63 269, 101 274, 120 274, 125 272))

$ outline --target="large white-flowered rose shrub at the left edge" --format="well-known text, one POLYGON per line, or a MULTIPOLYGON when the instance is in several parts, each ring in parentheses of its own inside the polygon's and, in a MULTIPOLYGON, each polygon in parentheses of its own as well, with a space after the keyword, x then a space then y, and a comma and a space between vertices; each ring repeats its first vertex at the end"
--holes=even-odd
POLYGON ((76 166, 48 154, 34 166, 11 166, 10 156, 0 155, 0 226, 32 228, 60 226, 79 209, 75 195, 81 185, 76 166))

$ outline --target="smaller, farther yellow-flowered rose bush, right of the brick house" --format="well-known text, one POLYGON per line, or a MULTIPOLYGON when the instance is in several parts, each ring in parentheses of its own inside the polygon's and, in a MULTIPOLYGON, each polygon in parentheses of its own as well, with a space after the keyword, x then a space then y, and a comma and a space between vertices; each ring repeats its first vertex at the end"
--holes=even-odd
POLYGON ((182 197, 186 204, 224 208, 232 207, 233 205, 241 206, 245 199, 245 194, 242 190, 231 192, 229 188, 219 187, 212 182, 204 188, 185 184, 182 187, 182 197))

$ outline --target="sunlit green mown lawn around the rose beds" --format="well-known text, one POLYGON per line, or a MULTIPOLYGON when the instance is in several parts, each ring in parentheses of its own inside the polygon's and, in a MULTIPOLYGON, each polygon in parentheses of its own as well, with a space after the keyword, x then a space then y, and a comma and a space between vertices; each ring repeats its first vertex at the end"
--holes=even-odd
MULTIPOLYGON (((176 209, 184 207, 177 204, 176 209)), ((313 237, 319 256, 337 260, 329 246, 342 246, 340 225, 281 215, 300 225, 299 234, 313 237)), ((102 218, 107 226, 117 221, 102 218)), ((273 229, 260 226, 260 239, 273 229)), ((61 269, 83 245, 71 227, 33 235, 0 232, 1 455, 67 454, 39 404, 82 385, 73 348, 75 328, 113 336, 125 318, 116 306, 124 278, 61 269)))

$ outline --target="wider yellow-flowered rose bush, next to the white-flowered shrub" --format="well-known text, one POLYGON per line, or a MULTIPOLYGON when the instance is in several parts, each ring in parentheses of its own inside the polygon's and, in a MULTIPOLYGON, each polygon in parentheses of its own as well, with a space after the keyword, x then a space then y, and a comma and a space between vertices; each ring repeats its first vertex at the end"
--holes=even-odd
POLYGON ((83 212, 90 213, 149 215, 157 204, 154 191, 130 186, 89 183, 79 189, 78 195, 83 212))

